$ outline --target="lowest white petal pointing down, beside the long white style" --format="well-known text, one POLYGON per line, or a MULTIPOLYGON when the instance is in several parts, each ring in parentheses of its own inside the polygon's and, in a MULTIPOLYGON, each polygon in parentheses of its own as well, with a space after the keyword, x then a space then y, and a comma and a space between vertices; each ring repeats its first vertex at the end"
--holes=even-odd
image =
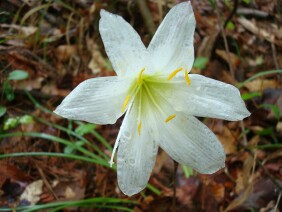
POLYGON ((138 112, 138 101, 134 101, 133 106, 126 113, 120 129, 117 154, 118 184, 121 191, 129 196, 146 187, 158 151, 154 140, 153 127, 155 123, 152 114, 147 113, 146 116, 142 116, 139 135, 138 112))

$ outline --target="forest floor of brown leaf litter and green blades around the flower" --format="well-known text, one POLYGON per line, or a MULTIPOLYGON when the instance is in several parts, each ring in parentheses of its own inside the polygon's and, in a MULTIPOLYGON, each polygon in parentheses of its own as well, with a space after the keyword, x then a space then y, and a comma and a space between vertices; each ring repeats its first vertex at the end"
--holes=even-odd
POLYGON ((181 1, 140 2, 0 1, 0 211, 281 209, 279 0, 192 1, 191 72, 238 87, 252 113, 241 122, 201 119, 227 155, 226 167, 215 174, 181 165, 174 174, 172 159, 159 150, 148 187, 127 197, 108 164, 122 118, 101 126, 52 112, 80 82, 115 75, 98 30, 101 9, 121 15, 147 46, 181 1))

